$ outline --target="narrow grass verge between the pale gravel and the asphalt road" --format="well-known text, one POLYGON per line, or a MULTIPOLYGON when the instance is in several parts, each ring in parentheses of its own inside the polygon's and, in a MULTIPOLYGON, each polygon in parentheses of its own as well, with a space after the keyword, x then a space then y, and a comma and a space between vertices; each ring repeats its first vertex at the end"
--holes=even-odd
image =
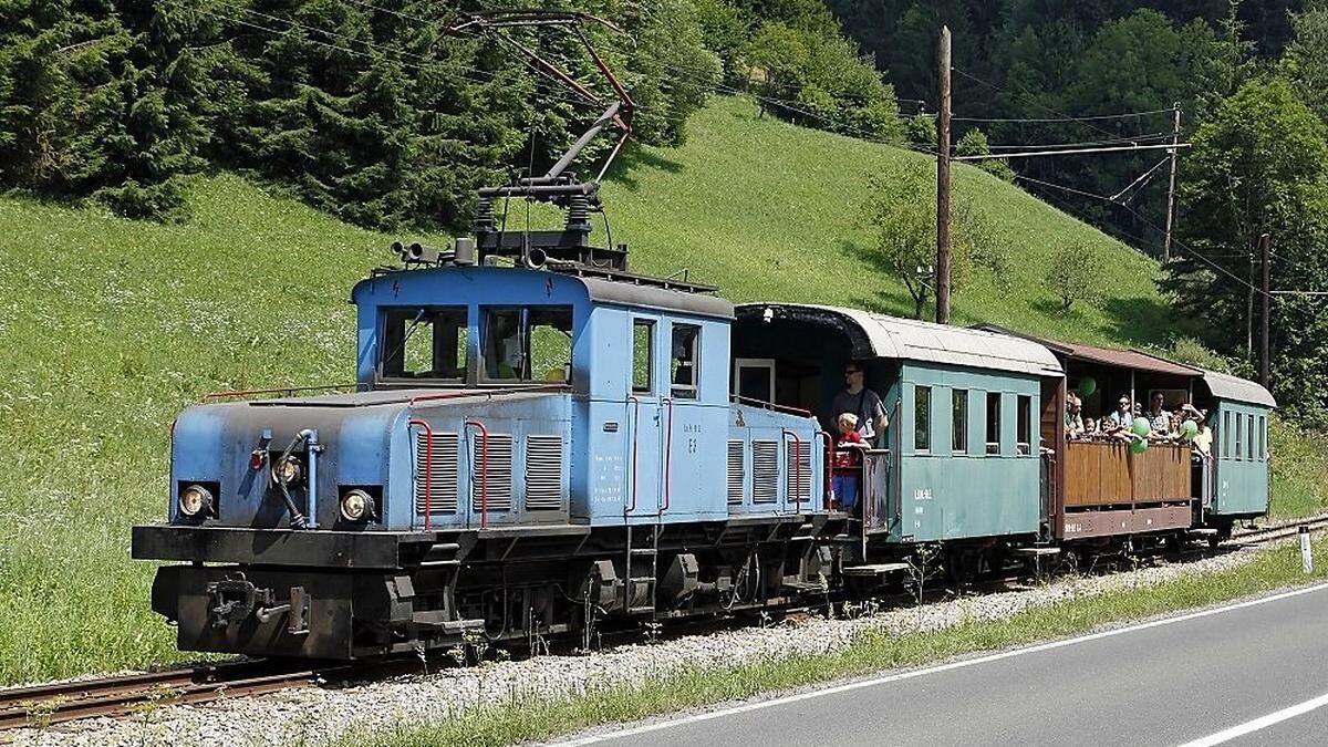
POLYGON ((591 687, 583 695, 540 699, 511 693, 501 703, 465 711, 442 723, 389 731, 355 731, 341 747, 497 747, 551 739, 599 724, 632 722, 687 708, 842 678, 916 667, 955 657, 1088 633, 1106 625, 1227 602, 1328 577, 1328 538, 1315 542, 1316 572, 1300 568, 1297 546, 1264 550, 1239 568, 1157 586, 1109 591, 1024 610, 1004 621, 969 621, 908 635, 869 633, 838 651, 766 661, 734 669, 699 669, 631 687, 591 687))

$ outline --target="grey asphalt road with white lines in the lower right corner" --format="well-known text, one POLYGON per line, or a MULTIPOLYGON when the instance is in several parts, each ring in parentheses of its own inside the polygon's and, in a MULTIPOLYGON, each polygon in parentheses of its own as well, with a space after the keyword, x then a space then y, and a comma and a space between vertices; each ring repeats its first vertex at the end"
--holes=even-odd
POLYGON ((1328 744, 1328 585, 576 739, 615 747, 1328 744))

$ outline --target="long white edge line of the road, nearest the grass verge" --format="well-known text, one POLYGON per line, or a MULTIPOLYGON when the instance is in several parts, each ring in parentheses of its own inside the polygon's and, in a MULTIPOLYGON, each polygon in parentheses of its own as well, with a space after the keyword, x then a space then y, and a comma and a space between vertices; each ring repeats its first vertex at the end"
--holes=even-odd
MULTIPOLYGON (((1191 619, 1199 619, 1199 618, 1211 617, 1211 615, 1215 615, 1215 614, 1228 613, 1228 611, 1234 611, 1234 610, 1243 610, 1246 607, 1254 607, 1254 606, 1258 606, 1258 605, 1266 605, 1268 602, 1276 602, 1276 601, 1280 601, 1280 599, 1288 599, 1291 597, 1299 597, 1301 594, 1309 594, 1312 591, 1323 591, 1324 589, 1328 589, 1328 584, 1316 584, 1313 586, 1304 586, 1301 589, 1292 589, 1291 591, 1283 591, 1280 594, 1272 594, 1270 597, 1259 597, 1256 599, 1247 599, 1244 602, 1236 602, 1234 605, 1226 605, 1226 606, 1220 606, 1220 607, 1211 607, 1211 609, 1206 609, 1206 610, 1187 613, 1187 614, 1183 614, 1183 615, 1179 615, 1179 617, 1167 617, 1167 618, 1162 618, 1162 619, 1153 619, 1153 621, 1149 621, 1149 622, 1141 622, 1138 625, 1130 625, 1130 626, 1126 626, 1126 627, 1113 627, 1112 630, 1101 630, 1098 633, 1090 633, 1088 635, 1080 635, 1078 638, 1065 638, 1065 639, 1061 639, 1061 641, 1050 641, 1048 643, 1038 643, 1036 646, 1028 646, 1025 649, 1012 649, 1009 651, 1000 651, 999 654, 988 654, 985 657, 975 657, 972 659, 961 659, 961 661, 957 661, 957 662, 950 662, 950 663, 940 665, 940 666, 934 666, 934 667, 927 667, 927 669, 919 669, 919 670, 911 670, 911 671, 902 671, 902 673, 898 673, 898 674, 890 674, 890 675, 878 677, 878 678, 874 678, 874 679, 862 679, 862 681, 858 681, 858 682, 850 682, 847 685, 839 685, 839 686, 835 686, 835 687, 827 687, 825 690, 811 690, 811 691, 807 691, 807 693, 798 693, 795 695, 785 695, 782 698, 772 698, 769 700, 760 700, 760 702, 754 702, 754 703, 744 703, 741 706, 733 706, 733 707, 729 707, 729 708, 721 708, 721 710, 716 710, 716 711, 706 711, 706 712, 703 712, 703 714, 693 714, 693 715, 689 715, 689 716, 676 718, 676 719, 671 719, 671 720, 661 720, 661 722, 655 722, 655 723, 648 723, 648 724, 644 724, 644 726, 637 726, 637 727, 631 727, 631 728, 622 728, 622 730, 618 730, 618 731, 610 731, 610 732, 604 732, 604 734, 591 734, 591 735, 587 735, 587 736, 580 736, 580 738, 570 739, 570 740, 566 740, 566 742, 555 742, 554 744, 559 746, 559 747, 575 747, 575 746, 580 746, 580 744, 596 744, 599 742, 608 742, 611 739, 622 739, 624 736, 636 736, 639 734, 649 734, 652 731, 663 731, 665 728, 673 728, 673 727, 687 726, 687 724, 692 724, 692 723, 700 723, 700 722, 706 722, 706 720, 712 720, 712 719, 720 719, 720 718, 732 716, 732 715, 737 715, 737 714, 745 714, 745 712, 749 712, 749 711, 758 711, 758 710, 762 710, 762 708, 774 708, 774 707, 778 707, 778 706, 786 706, 789 703, 797 703, 797 702, 801 702, 801 700, 810 700, 813 698, 821 698, 822 695, 835 695, 835 694, 839 694, 839 693, 850 693, 853 690, 862 690, 863 687, 875 687, 878 685, 887 685, 887 683, 891 683, 891 682, 902 682, 902 681, 906 681, 906 679, 914 679, 914 678, 918 678, 918 677, 926 677, 928 674, 939 674, 939 673, 943 673, 943 671, 952 671, 952 670, 956 670, 956 669, 967 669, 967 667, 971 667, 971 666, 985 665, 985 663, 989 663, 989 662, 999 662, 1001 659, 1009 659, 1009 658, 1013 658, 1013 657, 1023 657, 1025 654, 1037 654, 1037 653, 1041 653, 1041 651, 1050 651, 1053 649, 1064 649, 1066 646, 1074 646, 1074 645, 1078 645, 1078 643, 1088 643, 1089 641, 1100 641, 1102 638, 1112 638, 1114 635, 1123 635, 1126 633, 1135 633, 1135 631, 1139 631, 1139 630, 1149 630, 1149 629, 1153 629, 1153 627, 1162 627, 1163 625, 1174 625, 1174 623, 1178 623, 1178 622, 1187 622, 1187 621, 1191 621, 1191 619)), ((1328 695, 1325 695, 1325 698, 1328 698, 1328 695)), ((1313 700, 1311 700, 1311 702, 1313 702, 1313 700)), ((1319 707, 1319 706, 1315 706, 1315 707, 1319 707)), ((1278 715, 1278 714, 1274 714, 1274 715, 1278 715)), ((1291 715, 1295 715, 1295 714, 1291 714, 1291 715)), ((1284 716, 1284 718, 1291 718, 1291 715, 1284 716)), ((1264 718, 1270 718, 1270 716, 1264 716, 1264 718)), ((1195 744, 1199 744, 1199 743, 1195 743, 1195 744)), ((1203 744, 1208 744, 1208 743, 1203 743, 1203 744)), ((1216 744, 1216 742, 1212 742, 1211 744, 1216 744)))

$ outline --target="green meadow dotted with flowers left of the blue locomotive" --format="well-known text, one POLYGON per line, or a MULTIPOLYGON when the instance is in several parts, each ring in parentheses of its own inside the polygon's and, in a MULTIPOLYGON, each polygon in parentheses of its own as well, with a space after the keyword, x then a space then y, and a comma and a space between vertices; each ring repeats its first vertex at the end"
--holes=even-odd
POLYGON ((234 177, 194 203, 159 226, 0 199, 0 682, 178 658, 129 560, 175 413, 353 377, 348 290, 388 239, 234 177))

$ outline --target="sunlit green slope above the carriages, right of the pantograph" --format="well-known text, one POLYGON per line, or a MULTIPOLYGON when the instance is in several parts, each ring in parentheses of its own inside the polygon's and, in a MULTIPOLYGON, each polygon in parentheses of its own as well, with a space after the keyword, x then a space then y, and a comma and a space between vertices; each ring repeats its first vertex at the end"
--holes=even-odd
MULTIPOLYGON (((859 219, 869 177, 891 166, 932 167, 920 153, 811 133, 758 118, 756 106, 721 100, 697 114, 677 150, 643 149, 604 190, 615 241, 633 267, 681 267, 736 300, 798 299, 912 314, 903 284, 870 257, 859 219)), ((992 322, 1081 342, 1155 343, 1171 324, 1153 278, 1157 263, 968 165, 955 193, 1013 247, 997 287, 979 274, 955 296, 954 322, 992 322), (1104 257, 1100 308, 1056 312, 1044 286, 1056 246, 1080 241, 1104 257)))

